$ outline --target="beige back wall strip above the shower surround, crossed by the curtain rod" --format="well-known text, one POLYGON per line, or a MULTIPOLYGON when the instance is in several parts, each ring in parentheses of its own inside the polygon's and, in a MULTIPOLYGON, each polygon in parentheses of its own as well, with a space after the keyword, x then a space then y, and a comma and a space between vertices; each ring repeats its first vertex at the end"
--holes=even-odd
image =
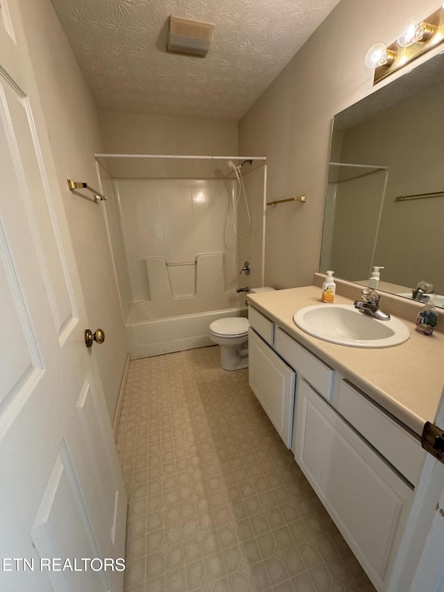
MULTIPOLYGON (((237 155, 237 122, 102 111, 107 153, 237 155)), ((113 177, 214 178, 228 175, 223 161, 108 160, 113 177)))

